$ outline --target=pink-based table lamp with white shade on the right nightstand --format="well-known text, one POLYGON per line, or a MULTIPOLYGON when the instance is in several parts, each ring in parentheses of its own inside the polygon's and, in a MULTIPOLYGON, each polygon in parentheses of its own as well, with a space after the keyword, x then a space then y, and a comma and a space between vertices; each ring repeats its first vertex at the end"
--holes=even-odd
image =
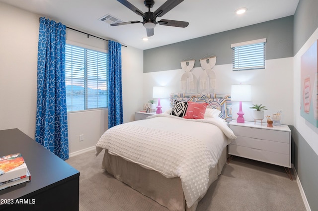
POLYGON ((244 112, 242 111, 242 101, 251 101, 250 84, 234 84, 231 87, 231 100, 239 101, 239 112, 237 122, 244 123, 244 112))

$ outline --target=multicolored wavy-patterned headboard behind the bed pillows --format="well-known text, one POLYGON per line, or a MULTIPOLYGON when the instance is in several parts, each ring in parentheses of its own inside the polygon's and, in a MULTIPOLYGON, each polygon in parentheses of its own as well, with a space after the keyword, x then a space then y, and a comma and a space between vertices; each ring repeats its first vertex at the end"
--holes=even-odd
POLYGON ((217 108, 221 110, 220 117, 227 122, 232 120, 232 102, 230 94, 185 94, 185 93, 171 93, 170 107, 173 106, 174 101, 192 101, 196 103, 207 103, 207 107, 217 108))

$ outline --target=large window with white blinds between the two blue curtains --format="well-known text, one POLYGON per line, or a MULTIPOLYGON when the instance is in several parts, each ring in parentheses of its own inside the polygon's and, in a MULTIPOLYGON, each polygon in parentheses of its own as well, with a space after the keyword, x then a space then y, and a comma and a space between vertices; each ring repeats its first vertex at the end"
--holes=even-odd
POLYGON ((108 106, 108 54, 66 44, 67 111, 108 106))

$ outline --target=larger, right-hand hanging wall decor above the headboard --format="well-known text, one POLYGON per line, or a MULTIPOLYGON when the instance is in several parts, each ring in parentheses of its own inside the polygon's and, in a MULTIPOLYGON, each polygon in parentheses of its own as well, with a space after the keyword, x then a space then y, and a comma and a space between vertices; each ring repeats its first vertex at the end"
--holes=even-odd
POLYGON ((199 76, 199 92, 200 93, 214 93, 216 76, 212 68, 215 66, 217 57, 214 55, 206 55, 200 59, 200 64, 203 69, 199 76))

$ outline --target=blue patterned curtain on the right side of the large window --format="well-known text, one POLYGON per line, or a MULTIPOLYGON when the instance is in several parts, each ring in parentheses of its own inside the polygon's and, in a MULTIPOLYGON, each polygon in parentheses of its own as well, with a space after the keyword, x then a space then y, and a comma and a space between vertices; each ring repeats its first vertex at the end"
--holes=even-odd
POLYGON ((108 53, 108 128, 111 128, 124 122, 121 85, 121 44, 110 40, 108 42, 108 53))

